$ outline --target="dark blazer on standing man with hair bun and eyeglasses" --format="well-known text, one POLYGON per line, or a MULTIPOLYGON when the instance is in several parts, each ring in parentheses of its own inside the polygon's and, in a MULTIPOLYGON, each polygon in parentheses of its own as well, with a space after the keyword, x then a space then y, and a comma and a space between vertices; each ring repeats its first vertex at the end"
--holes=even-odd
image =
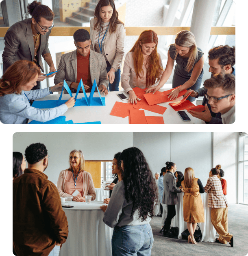
MULTIPOLYGON (((49 30, 46 35, 41 35, 41 42, 37 57, 39 66, 44 72, 41 55, 50 53, 48 49, 48 38, 51 33, 49 30)), ((35 55, 35 44, 31 29, 31 18, 16 22, 6 32, 4 36, 4 51, 2 54, 3 73, 17 60, 33 61, 35 55)))

